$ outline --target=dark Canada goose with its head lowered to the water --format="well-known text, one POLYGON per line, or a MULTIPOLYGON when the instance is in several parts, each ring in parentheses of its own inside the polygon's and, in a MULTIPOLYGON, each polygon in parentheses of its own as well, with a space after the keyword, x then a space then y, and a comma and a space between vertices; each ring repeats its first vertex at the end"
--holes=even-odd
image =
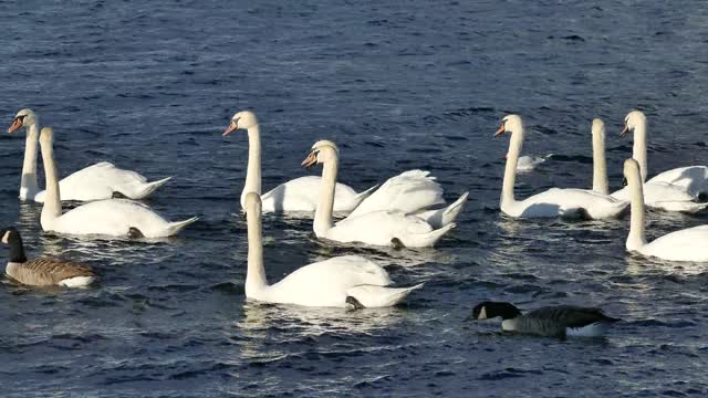
POLYGON ((621 321, 605 315, 600 308, 573 305, 541 307, 524 315, 511 303, 491 301, 477 305, 470 317, 488 320, 497 316, 502 320, 502 331, 561 338, 602 336, 613 323, 621 321))

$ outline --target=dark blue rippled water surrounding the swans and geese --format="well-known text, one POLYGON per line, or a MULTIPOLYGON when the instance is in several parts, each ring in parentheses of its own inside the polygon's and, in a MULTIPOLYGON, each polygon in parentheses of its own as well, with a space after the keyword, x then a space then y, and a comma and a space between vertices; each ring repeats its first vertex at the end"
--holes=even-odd
MULTIPOLYGON (((23 134, 0 136, 0 216, 32 255, 86 262, 90 290, 0 287, 2 396, 706 396, 708 273, 624 251, 627 219, 518 221, 499 214, 507 139, 556 154, 517 195, 591 184, 590 121, 608 129, 611 185, 649 119, 649 174, 708 164, 708 7, 702 1, 11 1, 0 3, 0 115, 31 107, 56 134, 61 170, 111 160, 150 179, 148 203, 201 219, 158 244, 41 231, 17 200, 23 134), (247 138, 220 132, 251 108, 263 186, 306 171, 315 139, 341 148, 357 189, 409 168, 448 199, 470 190, 435 250, 317 243, 306 220, 269 216, 271 282, 332 255, 426 282, 404 307, 344 312, 246 303, 238 197, 247 138), (464 323, 481 300, 522 308, 600 305, 605 339, 565 342, 464 323)), ((319 170, 312 171, 317 172, 319 170)), ((43 184, 42 184, 43 185, 43 184)), ((649 238, 707 223, 653 212, 649 238)))

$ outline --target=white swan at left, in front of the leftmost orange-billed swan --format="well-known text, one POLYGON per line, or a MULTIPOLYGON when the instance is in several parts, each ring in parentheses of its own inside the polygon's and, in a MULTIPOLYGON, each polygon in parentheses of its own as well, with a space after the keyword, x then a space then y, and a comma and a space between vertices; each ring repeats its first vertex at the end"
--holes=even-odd
POLYGON ((42 128, 40 145, 46 180, 46 201, 42 207, 41 224, 44 231, 71 234, 104 234, 164 238, 179 232, 197 221, 169 222, 147 206, 127 199, 104 199, 82 205, 62 214, 59 171, 54 163, 53 130, 42 128))

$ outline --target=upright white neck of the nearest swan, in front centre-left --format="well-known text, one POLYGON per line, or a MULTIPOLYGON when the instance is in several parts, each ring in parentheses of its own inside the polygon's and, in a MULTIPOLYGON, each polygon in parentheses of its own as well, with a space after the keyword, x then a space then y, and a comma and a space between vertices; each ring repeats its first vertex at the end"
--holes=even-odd
POLYGON ((263 231, 261 206, 253 205, 246 212, 248 223, 248 270, 246 271, 246 296, 258 297, 268 287, 263 266, 263 231))

